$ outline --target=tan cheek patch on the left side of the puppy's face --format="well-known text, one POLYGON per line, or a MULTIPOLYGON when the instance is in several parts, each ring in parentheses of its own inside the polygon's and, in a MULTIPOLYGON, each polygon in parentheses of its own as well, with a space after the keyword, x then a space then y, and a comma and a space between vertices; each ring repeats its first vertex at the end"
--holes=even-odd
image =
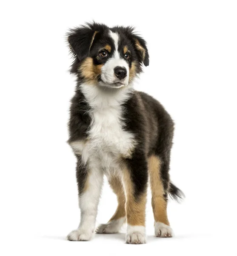
POLYGON ((91 57, 87 57, 83 63, 80 65, 79 70, 82 76, 87 81, 94 81, 101 74, 101 68, 103 64, 94 65, 93 59, 91 57))

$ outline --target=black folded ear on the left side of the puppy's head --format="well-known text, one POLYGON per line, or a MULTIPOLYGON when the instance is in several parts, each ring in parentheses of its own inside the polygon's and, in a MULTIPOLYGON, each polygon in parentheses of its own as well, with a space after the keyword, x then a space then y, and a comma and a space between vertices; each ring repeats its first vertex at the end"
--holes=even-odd
POLYGON ((71 29, 68 33, 69 47, 77 55, 78 61, 82 61, 89 55, 91 45, 98 31, 91 26, 81 26, 71 29))

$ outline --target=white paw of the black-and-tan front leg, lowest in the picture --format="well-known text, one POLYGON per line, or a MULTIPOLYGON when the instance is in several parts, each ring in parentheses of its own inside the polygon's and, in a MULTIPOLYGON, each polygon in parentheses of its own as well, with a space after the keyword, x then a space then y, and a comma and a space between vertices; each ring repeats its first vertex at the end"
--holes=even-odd
POLYGON ((127 244, 146 244, 145 227, 128 225, 127 233, 126 233, 126 243, 127 244))

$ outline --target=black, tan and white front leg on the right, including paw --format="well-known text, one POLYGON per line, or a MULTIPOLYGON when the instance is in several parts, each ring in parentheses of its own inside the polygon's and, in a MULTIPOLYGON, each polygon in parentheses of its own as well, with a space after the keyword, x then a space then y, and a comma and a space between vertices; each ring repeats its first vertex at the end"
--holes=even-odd
POLYGON ((148 182, 147 161, 144 157, 126 160, 123 183, 126 192, 126 243, 145 244, 145 212, 148 182))

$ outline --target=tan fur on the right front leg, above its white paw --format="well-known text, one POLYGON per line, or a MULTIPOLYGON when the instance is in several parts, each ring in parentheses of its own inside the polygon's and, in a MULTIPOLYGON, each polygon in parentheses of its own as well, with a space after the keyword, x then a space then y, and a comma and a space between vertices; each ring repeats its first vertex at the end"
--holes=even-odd
POLYGON ((126 192, 126 218, 131 226, 145 226, 146 221, 146 191, 140 195, 139 200, 134 198, 134 188, 129 170, 123 168, 123 182, 126 192))

